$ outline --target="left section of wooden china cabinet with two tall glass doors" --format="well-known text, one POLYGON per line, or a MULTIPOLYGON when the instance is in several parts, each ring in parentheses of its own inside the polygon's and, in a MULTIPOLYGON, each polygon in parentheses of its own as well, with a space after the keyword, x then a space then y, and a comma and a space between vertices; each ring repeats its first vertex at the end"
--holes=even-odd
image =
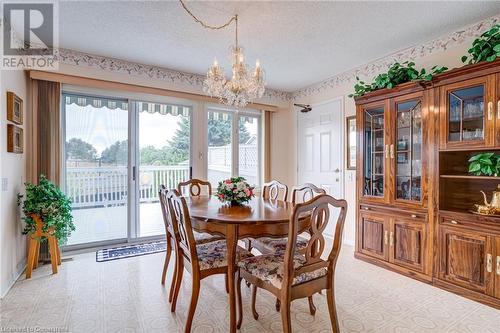
POLYGON ((431 281, 428 96, 410 83, 358 98, 358 258, 431 281))

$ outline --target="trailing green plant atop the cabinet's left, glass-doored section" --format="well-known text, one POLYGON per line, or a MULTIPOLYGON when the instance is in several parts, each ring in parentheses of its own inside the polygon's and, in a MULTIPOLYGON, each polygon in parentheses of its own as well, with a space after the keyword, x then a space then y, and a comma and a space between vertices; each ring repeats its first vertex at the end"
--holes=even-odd
POLYGON ((359 97, 366 93, 379 89, 391 89, 398 84, 410 82, 410 81, 430 81, 434 75, 440 74, 446 71, 446 67, 434 66, 431 68, 430 72, 427 72, 425 68, 420 71, 415 68, 415 63, 411 61, 405 61, 403 63, 396 62, 391 67, 387 73, 382 73, 377 75, 373 79, 373 83, 365 83, 361 81, 359 77, 356 76, 356 84, 354 85, 354 93, 350 94, 349 97, 359 97))

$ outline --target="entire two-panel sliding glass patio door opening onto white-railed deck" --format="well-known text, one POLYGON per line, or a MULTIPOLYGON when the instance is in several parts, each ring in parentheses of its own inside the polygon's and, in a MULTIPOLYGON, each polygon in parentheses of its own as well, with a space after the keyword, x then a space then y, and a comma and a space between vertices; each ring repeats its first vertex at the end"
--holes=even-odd
POLYGON ((66 245, 164 234, 158 190, 191 176, 192 107, 64 92, 62 109, 76 225, 66 245))

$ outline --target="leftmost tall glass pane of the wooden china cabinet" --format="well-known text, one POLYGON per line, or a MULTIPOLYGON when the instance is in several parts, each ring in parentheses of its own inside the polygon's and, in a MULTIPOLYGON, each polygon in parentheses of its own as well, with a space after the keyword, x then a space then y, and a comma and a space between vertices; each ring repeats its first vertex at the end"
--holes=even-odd
POLYGON ((363 177, 365 196, 384 196, 384 108, 364 111, 363 177))

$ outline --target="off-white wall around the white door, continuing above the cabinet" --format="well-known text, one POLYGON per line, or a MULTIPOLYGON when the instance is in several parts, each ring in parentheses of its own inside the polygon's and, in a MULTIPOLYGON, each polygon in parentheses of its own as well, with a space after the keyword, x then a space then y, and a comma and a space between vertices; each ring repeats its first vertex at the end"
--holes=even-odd
MULTIPOLYGON (((441 53, 435 53, 430 56, 426 56, 423 58, 419 58, 415 60, 416 67, 421 68, 425 67, 427 69, 431 68, 434 65, 439 65, 439 66, 446 66, 449 69, 455 68, 455 67, 461 67, 463 64, 460 60, 461 56, 464 54, 467 54, 467 49, 470 47, 470 44, 472 43, 473 39, 470 39, 468 42, 462 43, 457 46, 453 46, 448 48, 446 51, 441 52, 441 53)), ((408 59, 410 60, 410 59, 408 59)), ((374 74, 373 76, 370 77, 360 77, 361 79, 365 80, 366 82, 371 82, 372 78, 377 75, 374 74)), ((354 103, 353 98, 349 98, 348 95, 354 91, 352 83, 350 84, 342 84, 338 85, 335 87, 328 88, 326 90, 323 90, 319 93, 307 96, 307 97, 301 97, 297 98, 294 100, 295 103, 302 103, 302 104, 319 104, 321 102, 327 101, 327 100, 332 100, 334 98, 342 97, 344 99, 344 106, 345 106, 345 117, 349 117, 352 115, 356 114, 356 106, 354 103)), ((288 114, 283 113, 279 114, 276 118, 277 121, 282 122, 282 124, 275 125, 274 127, 277 127, 279 130, 278 133, 275 133, 275 135, 280 136, 281 138, 277 138, 278 141, 286 139, 288 142, 290 142, 290 145, 295 146, 295 143, 297 142, 297 133, 296 133, 296 125, 295 125, 295 120, 296 119, 296 110, 292 109, 291 112, 288 114), (285 124, 286 126, 290 126, 287 129, 284 128, 285 124)), ((343 126, 345 126, 346 120, 344 119, 343 121, 343 126)), ((273 137, 274 138, 274 137, 273 137)), ((345 139, 344 139, 345 140, 345 139)), ((281 142, 280 142, 281 143, 281 142)), ((344 141, 345 145, 345 141, 344 141)), ((284 154, 284 151, 281 151, 281 155, 284 154)), ((296 153, 291 152, 289 153, 289 158, 284 159, 275 159, 273 162, 273 168, 272 170, 276 170, 276 173, 279 173, 278 170, 284 170, 287 169, 288 171, 286 172, 288 180, 290 184, 294 184, 296 182, 296 165, 297 165, 297 157, 295 156, 296 153)), ((340 156, 339 156, 340 158, 340 156)), ((346 158, 345 156, 341 157, 344 160, 344 170, 346 169, 346 158)), ((356 205, 356 171, 355 170, 345 170, 344 173, 344 194, 345 194, 345 199, 348 202, 348 212, 347 212, 347 217, 346 217, 346 226, 345 226, 345 233, 344 233, 344 239, 346 243, 349 244, 354 244, 354 239, 355 239, 355 221, 356 221, 356 215, 355 215, 355 205, 356 205)))

